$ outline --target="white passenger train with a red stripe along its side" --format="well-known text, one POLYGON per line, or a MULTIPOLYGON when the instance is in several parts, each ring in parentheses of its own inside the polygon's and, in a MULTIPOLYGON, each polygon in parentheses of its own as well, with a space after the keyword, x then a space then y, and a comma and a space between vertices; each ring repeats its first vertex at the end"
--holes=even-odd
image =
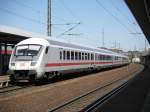
POLYGON ((33 81, 128 63, 127 56, 109 50, 54 39, 29 38, 15 46, 9 69, 15 81, 33 81))

